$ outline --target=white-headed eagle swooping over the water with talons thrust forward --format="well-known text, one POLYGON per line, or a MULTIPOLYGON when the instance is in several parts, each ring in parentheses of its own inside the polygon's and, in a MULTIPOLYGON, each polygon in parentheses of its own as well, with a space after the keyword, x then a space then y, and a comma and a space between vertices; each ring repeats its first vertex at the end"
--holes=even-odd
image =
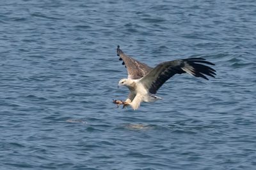
POLYGON ((127 78, 118 82, 118 87, 126 86, 130 91, 129 96, 125 101, 113 100, 117 106, 123 104, 123 108, 131 106, 133 110, 138 110, 141 102, 154 102, 161 99, 156 96, 157 90, 175 74, 188 73, 205 80, 209 80, 206 76, 213 78, 216 76, 216 70, 205 66, 205 64, 212 66, 215 64, 201 57, 161 62, 153 68, 126 55, 119 45, 116 52, 128 73, 127 78))

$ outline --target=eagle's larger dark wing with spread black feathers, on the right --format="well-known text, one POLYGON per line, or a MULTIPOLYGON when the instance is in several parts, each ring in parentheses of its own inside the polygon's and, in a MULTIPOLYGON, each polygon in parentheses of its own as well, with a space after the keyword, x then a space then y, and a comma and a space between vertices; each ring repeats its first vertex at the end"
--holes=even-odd
POLYGON ((202 58, 162 62, 144 76, 140 82, 143 83, 146 89, 148 89, 148 92, 156 94, 157 90, 163 85, 163 83, 174 74, 189 73, 193 76, 202 77, 206 80, 208 80, 208 78, 205 75, 215 77, 214 75, 216 75, 216 73, 214 72, 216 71, 204 64, 215 65, 202 58))

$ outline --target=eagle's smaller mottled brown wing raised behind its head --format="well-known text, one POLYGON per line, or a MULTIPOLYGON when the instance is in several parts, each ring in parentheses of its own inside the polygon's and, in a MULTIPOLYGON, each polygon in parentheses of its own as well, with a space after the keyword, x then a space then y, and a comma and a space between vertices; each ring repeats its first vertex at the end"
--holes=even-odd
POLYGON ((149 71, 152 70, 151 67, 147 66, 138 60, 132 59, 128 55, 125 55, 124 52, 120 49, 120 46, 117 46, 117 55, 120 57, 119 60, 123 60, 123 65, 127 68, 128 78, 139 79, 145 76, 149 71))

